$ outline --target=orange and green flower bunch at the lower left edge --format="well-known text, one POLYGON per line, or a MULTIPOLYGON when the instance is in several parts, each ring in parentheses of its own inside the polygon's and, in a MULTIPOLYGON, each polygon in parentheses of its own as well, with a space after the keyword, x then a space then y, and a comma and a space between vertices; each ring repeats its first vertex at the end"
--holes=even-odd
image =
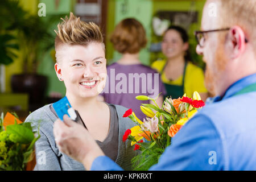
POLYGON ((31 123, 22 123, 16 114, 0 117, 0 171, 22 171, 33 159, 35 137, 31 123), (15 116, 14 116, 15 115, 15 116))

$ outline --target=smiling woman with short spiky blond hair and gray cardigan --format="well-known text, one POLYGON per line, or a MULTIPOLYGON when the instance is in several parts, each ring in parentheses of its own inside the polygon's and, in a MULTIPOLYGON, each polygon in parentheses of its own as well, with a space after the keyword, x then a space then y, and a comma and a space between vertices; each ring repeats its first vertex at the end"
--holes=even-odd
MULTIPOLYGON (((55 71, 64 81, 66 97, 73 109, 80 114, 90 135, 119 166, 130 169, 130 160, 137 155, 122 136, 135 123, 122 118, 127 110, 123 106, 106 104, 97 100, 106 82, 105 46, 100 28, 94 23, 85 23, 72 13, 63 19, 55 31, 55 71), (100 113, 100 114, 99 114, 100 113)), ((38 126, 41 138, 36 142, 35 169, 38 170, 84 170, 84 166, 61 153, 53 136, 53 123, 57 119, 52 104, 31 113, 26 122, 38 126), (41 156, 42 151, 46 155, 41 156), (44 158, 44 159, 42 159, 44 158), (43 161, 43 162, 42 162, 43 161)))

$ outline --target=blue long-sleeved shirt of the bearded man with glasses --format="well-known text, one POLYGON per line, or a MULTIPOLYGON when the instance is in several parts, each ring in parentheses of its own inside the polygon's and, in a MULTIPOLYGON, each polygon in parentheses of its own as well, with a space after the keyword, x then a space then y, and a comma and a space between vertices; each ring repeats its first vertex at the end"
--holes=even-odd
MULTIPOLYGON (((256 92, 234 96, 256 83, 256 74, 238 80, 223 97, 209 98, 150 170, 256 170, 256 92)), ((122 170, 107 156, 91 170, 122 170)))

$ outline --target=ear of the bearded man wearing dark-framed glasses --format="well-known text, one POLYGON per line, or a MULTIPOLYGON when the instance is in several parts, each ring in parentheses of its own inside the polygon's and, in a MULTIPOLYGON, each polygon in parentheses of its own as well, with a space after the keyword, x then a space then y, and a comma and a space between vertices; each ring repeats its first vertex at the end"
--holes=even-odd
POLYGON ((242 28, 234 26, 229 31, 229 41, 231 42, 232 59, 239 57, 245 50, 245 33, 242 28))

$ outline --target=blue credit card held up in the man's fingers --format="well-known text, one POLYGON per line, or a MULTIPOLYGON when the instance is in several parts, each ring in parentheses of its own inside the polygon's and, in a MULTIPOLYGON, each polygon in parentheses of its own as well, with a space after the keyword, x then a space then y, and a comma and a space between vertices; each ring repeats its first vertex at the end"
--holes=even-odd
POLYGON ((65 96, 61 98, 61 100, 55 102, 52 104, 53 109, 56 111, 58 117, 63 121, 63 115, 67 114, 68 117, 70 115, 68 114, 68 109, 71 107, 71 104, 68 101, 68 98, 65 96))

